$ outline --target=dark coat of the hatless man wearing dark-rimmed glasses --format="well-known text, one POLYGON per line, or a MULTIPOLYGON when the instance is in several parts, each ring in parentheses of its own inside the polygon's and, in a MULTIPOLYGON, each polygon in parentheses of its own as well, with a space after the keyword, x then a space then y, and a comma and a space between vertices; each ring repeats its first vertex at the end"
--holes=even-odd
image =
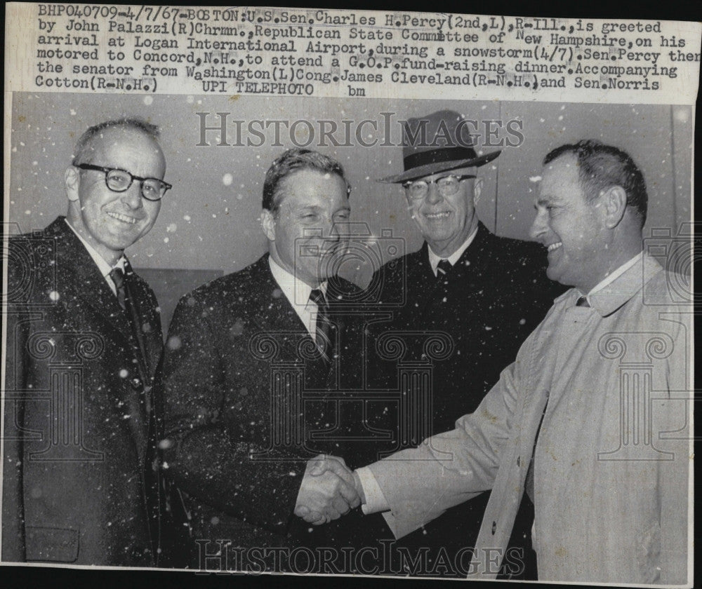
POLYGON ((3 560, 153 566, 154 294, 133 277, 144 375, 126 313, 63 217, 9 252, 3 560))

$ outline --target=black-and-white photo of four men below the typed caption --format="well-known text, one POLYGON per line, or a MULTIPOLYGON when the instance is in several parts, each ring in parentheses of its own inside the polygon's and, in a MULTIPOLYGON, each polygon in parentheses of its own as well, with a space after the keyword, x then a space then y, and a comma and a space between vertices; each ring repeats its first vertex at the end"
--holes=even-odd
POLYGON ((6 93, 2 564, 691 586, 694 97, 119 61, 6 93))

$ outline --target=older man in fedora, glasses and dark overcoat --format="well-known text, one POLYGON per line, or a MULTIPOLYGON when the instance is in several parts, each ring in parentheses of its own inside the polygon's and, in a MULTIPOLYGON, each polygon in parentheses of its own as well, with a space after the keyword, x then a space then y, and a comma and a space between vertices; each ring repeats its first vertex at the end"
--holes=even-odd
MULTIPOLYGON (((402 388, 398 361, 378 352, 390 332, 406 346, 405 362, 426 360, 425 339, 432 334, 446 334, 448 338, 442 337, 448 349, 444 359, 432 361, 428 415, 402 415, 402 409, 393 411, 386 401, 377 406, 366 402, 369 428, 391 431, 392 439, 349 445, 343 454, 349 466, 418 445, 431 433, 453 428, 457 415, 474 411, 562 292, 545 275, 547 260, 540 245, 495 236, 477 218, 475 202, 483 185, 477 171, 500 151, 478 155, 468 122, 448 110, 409 119, 403 133, 404 172, 380 180, 402 185, 425 243, 417 252, 388 262, 371 279, 371 285, 381 284, 373 311, 387 310, 392 318, 371 323, 367 330, 369 384, 374 390, 402 388), (399 433, 402 423, 422 417, 426 425, 416 439, 399 433)), ((432 558, 443 557, 439 549, 453 562, 456 553, 475 542, 488 498, 489 492, 447 510, 401 545, 429 548, 430 567, 432 558)), ((524 531, 531 525, 530 508, 524 509, 524 531)), ((380 527, 387 530, 380 515, 371 517, 377 518, 376 525, 371 529, 366 517, 359 537, 378 534, 380 527)), ((519 532, 515 529, 515 537, 525 535, 519 532)), ((443 574, 453 576, 454 571, 448 567, 443 574)))

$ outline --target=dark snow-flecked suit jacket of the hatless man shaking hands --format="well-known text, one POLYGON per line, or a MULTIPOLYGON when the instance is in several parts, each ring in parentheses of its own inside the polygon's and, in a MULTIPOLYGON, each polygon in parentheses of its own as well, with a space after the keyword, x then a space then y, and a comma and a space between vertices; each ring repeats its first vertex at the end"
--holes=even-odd
MULTIPOLYGON (((354 289, 329 280, 327 297, 354 289)), ((192 510, 191 567, 204 567, 200 555, 216 553, 218 540, 231 542, 223 567, 252 571, 284 564, 237 548, 316 543, 293 515, 305 461, 338 454, 326 435, 337 420, 337 403, 326 400, 336 367, 316 355, 268 255, 180 300, 159 388, 168 473, 192 510)))

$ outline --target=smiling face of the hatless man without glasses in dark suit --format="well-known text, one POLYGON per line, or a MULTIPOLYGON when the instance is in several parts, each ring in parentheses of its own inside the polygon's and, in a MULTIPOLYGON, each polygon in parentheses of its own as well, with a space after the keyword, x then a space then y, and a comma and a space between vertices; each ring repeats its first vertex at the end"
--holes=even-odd
POLYGON ((339 224, 351 214, 346 183, 336 175, 303 169, 278 185, 278 210, 261 217, 274 261, 299 280, 317 287, 333 274, 345 247, 339 224))

